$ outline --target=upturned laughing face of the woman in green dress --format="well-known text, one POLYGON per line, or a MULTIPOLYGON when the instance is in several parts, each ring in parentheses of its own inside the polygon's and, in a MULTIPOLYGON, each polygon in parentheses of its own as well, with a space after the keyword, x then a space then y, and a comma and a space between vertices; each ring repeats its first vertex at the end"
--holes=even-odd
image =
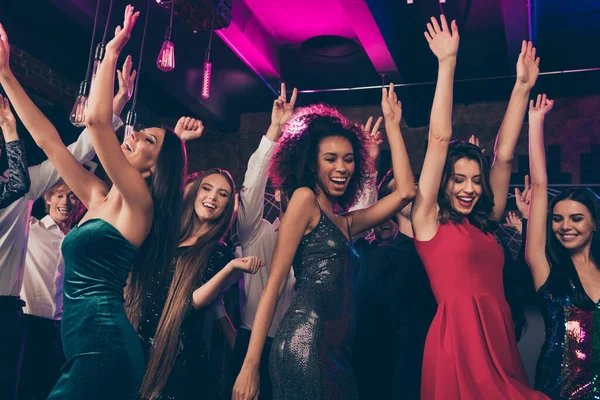
POLYGON ((165 134, 166 132, 162 128, 145 128, 133 131, 123 141, 121 150, 131 165, 143 176, 148 176, 154 171, 165 134))

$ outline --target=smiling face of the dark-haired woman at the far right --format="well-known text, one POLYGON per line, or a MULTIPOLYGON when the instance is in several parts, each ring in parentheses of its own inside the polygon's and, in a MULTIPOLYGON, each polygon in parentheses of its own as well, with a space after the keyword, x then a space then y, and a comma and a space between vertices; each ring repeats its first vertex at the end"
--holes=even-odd
POLYGON ((595 228, 590 210, 582 203, 565 199, 554 206, 552 231, 566 249, 577 250, 589 245, 595 228))

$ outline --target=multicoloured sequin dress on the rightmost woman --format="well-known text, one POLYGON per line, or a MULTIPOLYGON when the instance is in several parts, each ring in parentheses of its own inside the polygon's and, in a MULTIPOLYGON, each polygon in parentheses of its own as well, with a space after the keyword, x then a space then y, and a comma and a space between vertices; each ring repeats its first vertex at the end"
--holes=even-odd
POLYGON ((546 340, 535 387, 553 400, 600 399, 600 329, 594 329, 600 326, 600 304, 588 299, 578 307, 568 294, 554 295, 552 278, 538 290, 546 340))

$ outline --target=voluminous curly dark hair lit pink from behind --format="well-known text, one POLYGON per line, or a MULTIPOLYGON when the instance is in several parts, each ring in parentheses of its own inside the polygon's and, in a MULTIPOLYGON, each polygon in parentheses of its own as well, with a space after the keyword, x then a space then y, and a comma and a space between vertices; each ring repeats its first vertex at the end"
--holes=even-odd
POLYGON ((347 211, 369 181, 367 140, 358 124, 332 106, 313 104, 296 110, 283 127, 283 136, 271 160, 269 177, 273 186, 281 189, 287 198, 292 198, 300 187, 315 190, 319 144, 330 136, 347 139, 354 152, 354 174, 337 203, 341 211, 347 211))

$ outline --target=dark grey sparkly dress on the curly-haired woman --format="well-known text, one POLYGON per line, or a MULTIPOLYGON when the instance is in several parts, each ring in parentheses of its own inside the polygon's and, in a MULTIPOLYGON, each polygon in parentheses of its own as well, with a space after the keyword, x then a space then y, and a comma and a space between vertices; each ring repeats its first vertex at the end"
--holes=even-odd
POLYGON ((321 211, 293 265, 296 295, 271 347, 273 398, 358 399, 352 371, 358 253, 321 211))

